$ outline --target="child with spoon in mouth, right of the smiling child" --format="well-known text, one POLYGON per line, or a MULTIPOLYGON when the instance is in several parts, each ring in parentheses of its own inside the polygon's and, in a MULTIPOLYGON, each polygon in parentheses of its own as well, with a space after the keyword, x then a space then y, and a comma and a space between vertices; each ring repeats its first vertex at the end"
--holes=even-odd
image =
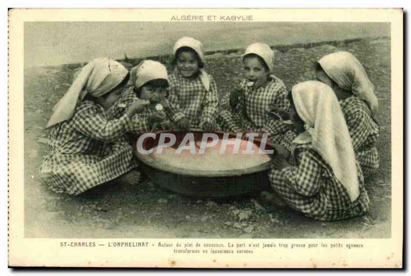
POLYGON ((254 43, 247 47, 242 62, 246 78, 230 94, 232 110, 222 110, 219 123, 231 132, 267 132, 279 143, 289 128, 277 114, 287 111, 289 102, 284 83, 272 74, 274 53, 268 45, 254 43))

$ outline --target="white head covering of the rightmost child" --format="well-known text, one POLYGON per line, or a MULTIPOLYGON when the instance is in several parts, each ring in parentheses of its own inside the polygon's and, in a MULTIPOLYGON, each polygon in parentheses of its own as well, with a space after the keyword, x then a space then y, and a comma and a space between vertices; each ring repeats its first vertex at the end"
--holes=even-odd
POLYGON ((377 112, 378 99, 374 94, 374 86, 355 56, 349 52, 336 52, 323 56, 318 63, 338 86, 351 90, 368 103, 373 114, 377 112))

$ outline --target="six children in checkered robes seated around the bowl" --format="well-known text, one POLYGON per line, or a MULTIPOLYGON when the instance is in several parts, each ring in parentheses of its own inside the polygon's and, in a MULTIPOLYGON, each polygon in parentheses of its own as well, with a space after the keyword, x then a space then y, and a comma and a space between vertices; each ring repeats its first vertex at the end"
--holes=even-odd
POLYGON ((275 148, 269 178, 276 204, 317 220, 367 212, 364 175, 378 168, 378 100, 356 57, 336 52, 315 66, 317 81, 287 91, 273 74, 274 53, 247 47, 245 78, 219 103, 201 42, 182 37, 173 71, 143 61, 129 72, 97 58, 76 75, 48 122, 52 152, 41 175, 58 192, 140 181, 128 134, 155 129, 268 133, 275 148))

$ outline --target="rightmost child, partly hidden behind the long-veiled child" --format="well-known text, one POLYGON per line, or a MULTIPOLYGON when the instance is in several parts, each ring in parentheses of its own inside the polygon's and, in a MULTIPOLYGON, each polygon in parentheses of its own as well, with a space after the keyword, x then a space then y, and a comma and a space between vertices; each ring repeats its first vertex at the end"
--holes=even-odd
POLYGON ((379 127, 374 119, 378 99, 374 86, 355 56, 337 52, 322 57, 316 66, 317 80, 337 95, 364 176, 379 167, 379 127))

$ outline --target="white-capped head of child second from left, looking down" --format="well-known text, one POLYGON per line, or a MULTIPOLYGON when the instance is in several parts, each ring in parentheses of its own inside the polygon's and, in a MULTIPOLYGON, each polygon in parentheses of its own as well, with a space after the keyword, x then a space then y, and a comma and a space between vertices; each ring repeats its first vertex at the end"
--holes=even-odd
POLYGON ((134 85, 137 97, 154 105, 165 99, 169 77, 164 65, 156 61, 143 61, 130 74, 130 83, 134 85))

